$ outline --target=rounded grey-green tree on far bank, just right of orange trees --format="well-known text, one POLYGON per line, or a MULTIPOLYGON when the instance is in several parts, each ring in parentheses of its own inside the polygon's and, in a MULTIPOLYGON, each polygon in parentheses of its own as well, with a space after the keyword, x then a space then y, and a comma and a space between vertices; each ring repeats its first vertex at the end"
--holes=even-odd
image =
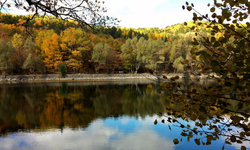
POLYGON ((98 43, 95 45, 93 53, 92 53, 92 59, 96 63, 96 72, 98 73, 99 67, 102 64, 107 64, 107 57, 110 51, 110 47, 108 44, 98 43))

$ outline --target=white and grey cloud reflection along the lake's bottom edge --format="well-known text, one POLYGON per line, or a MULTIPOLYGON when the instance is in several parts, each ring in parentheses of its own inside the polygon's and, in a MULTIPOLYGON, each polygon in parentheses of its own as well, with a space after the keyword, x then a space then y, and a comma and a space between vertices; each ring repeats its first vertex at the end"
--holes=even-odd
POLYGON ((157 132, 141 128, 135 133, 119 132, 95 121, 82 130, 65 129, 45 133, 20 133, 0 138, 0 150, 14 149, 173 149, 172 141, 162 139, 157 132), (116 137, 112 139, 112 137, 116 137))

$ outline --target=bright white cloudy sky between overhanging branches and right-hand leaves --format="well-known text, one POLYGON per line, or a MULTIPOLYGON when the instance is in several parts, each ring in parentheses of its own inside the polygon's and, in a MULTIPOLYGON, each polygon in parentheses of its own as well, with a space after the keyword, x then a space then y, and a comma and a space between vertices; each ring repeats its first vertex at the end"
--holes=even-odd
POLYGON ((213 0, 106 0, 108 14, 121 20, 121 27, 159 27, 192 20, 192 12, 182 9, 186 1, 201 13, 208 13, 213 0))

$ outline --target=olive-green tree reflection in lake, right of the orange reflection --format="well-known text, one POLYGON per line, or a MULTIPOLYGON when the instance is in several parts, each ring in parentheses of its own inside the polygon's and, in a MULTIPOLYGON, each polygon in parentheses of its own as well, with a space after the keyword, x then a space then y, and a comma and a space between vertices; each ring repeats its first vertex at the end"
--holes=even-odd
POLYGON ((146 95, 147 85, 118 86, 109 85, 96 88, 91 97, 96 114, 101 117, 117 117, 129 115, 145 117, 153 115, 156 111, 163 111, 164 105, 159 94, 154 90, 146 95), (144 92, 141 92, 144 91, 144 92))

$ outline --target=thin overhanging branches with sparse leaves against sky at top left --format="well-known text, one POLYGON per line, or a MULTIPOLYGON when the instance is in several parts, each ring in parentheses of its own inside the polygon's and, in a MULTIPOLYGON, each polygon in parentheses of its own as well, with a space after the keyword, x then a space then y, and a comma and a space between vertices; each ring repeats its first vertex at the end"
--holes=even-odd
POLYGON ((9 7, 15 7, 19 10, 25 10, 30 12, 31 17, 27 20, 26 24, 32 20, 35 16, 43 15, 60 17, 62 19, 73 19, 80 25, 87 25, 93 28, 92 25, 108 26, 110 24, 116 24, 117 19, 102 16, 103 12, 107 9, 103 7, 104 1, 93 0, 48 0, 48 1, 14 1, 4 0, 0 3, 0 11, 3 9, 8 10, 9 7))

